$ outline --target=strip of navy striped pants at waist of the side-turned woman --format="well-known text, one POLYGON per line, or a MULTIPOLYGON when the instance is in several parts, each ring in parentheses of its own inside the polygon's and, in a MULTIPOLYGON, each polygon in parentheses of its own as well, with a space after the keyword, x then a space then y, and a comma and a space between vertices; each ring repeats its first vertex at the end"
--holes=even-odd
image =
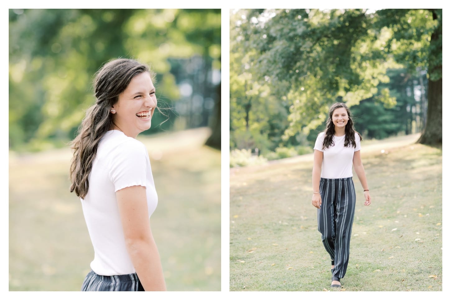
POLYGON ((83 281, 82 291, 144 291, 144 288, 136 273, 105 276, 91 270, 83 281))

